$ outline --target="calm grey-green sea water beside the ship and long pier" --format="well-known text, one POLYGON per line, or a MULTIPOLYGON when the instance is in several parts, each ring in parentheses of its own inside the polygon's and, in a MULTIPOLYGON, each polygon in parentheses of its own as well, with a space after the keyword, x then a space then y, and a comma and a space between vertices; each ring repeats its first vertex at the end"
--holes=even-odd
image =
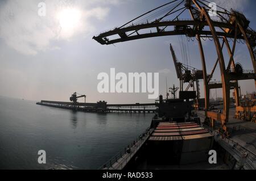
POLYGON ((0 169, 98 169, 150 126, 152 113, 85 113, 0 96, 0 169), (46 151, 46 164, 38 163, 46 151))

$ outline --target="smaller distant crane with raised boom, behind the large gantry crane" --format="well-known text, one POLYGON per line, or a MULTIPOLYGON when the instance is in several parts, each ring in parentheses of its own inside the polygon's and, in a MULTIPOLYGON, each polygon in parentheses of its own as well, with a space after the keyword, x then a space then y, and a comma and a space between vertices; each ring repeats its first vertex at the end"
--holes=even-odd
MULTIPOLYGON (((182 64, 176 58, 176 54, 172 44, 170 44, 170 50, 172 54, 172 59, 174 60, 174 66, 177 74, 177 78, 180 80, 180 90, 183 91, 184 83, 188 83, 185 91, 188 91, 190 87, 193 87, 193 91, 196 91, 196 102, 197 106, 200 99, 200 88, 199 88, 199 80, 204 79, 203 70, 198 70, 193 68, 192 66, 182 64), (196 83, 196 90, 195 90, 196 83)), ((209 78, 210 76, 207 75, 209 78)))

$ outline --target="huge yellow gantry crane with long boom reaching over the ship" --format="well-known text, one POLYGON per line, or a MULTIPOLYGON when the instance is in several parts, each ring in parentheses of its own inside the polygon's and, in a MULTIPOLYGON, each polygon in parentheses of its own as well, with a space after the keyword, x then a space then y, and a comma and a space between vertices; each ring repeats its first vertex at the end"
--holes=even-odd
POLYGON ((174 0, 134 18, 121 27, 93 36, 93 39, 102 45, 171 35, 185 35, 191 40, 196 40, 203 69, 205 119, 209 120, 212 123, 211 125, 215 121, 220 121, 222 131, 227 133, 226 123, 229 120, 230 90, 234 89, 237 111, 248 110, 256 112, 256 106, 240 106, 238 93, 238 81, 240 80, 254 79, 256 87, 256 32, 249 27, 249 20, 240 12, 229 11, 217 6, 216 15, 210 16, 212 7, 208 3, 205 0, 174 0), (184 15, 185 13, 187 16, 184 15), (184 16, 180 20, 181 14, 184 16), (187 19, 184 20, 184 18, 187 19), (207 57, 205 57, 201 39, 212 40, 216 48, 217 60, 209 77, 207 76, 206 68, 207 57), (229 40, 232 40, 233 44, 229 40), (239 65, 236 65, 234 61, 236 44, 241 42, 244 42, 247 46, 254 69, 253 72, 240 71, 239 65), (232 47, 230 47, 231 44, 232 47), (226 50, 229 54, 228 65, 225 65, 224 45, 226 45, 226 50), (210 78, 212 78, 217 65, 220 66, 221 83, 211 84, 210 78), (236 69, 236 66, 238 69, 236 69), (222 89, 224 102, 222 113, 209 110, 210 89, 222 89))

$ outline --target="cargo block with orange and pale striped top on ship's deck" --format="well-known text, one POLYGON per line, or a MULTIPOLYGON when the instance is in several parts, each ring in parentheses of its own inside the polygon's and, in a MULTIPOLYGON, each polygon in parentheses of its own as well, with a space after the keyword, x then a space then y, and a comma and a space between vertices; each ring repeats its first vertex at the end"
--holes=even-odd
POLYGON ((193 122, 159 123, 148 138, 150 154, 156 156, 152 161, 161 164, 185 165, 207 161, 212 144, 213 135, 208 129, 193 122))

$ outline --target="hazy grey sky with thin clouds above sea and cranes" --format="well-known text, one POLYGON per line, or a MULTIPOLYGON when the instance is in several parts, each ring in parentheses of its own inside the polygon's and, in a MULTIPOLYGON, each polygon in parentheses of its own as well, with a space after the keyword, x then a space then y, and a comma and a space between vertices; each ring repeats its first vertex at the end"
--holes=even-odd
MULTIPOLYGON (((148 94, 114 94, 97 91, 97 75, 110 68, 124 73, 159 72, 160 94, 168 85, 179 86, 169 44, 174 45, 181 60, 180 37, 165 36, 100 45, 94 35, 121 26, 143 12, 169 1, 156 0, 88 0, 0 1, 0 95, 30 100, 68 101, 75 91, 86 94, 88 102, 154 102, 148 94), (38 15, 38 4, 46 3, 46 16, 38 15), (67 16, 70 8, 73 17, 67 16)), ((256 30, 255 1, 215 1, 226 9, 245 13, 256 30)), ((208 71, 216 61, 212 41, 204 43, 208 71)), ((197 43, 190 41, 189 65, 201 68, 197 43)), ((227 54, 225 54, 227 57, 227 54)), ((226 58, 227 59, 227 58, 226 58)), ((245 45, 238 44, 235 60, 244 69, 253 69, 245 45)), ((220 80, 217 73, 213 79, 220 80)), ((241 90, 255 91, 254 81, 241 81, 241 90)), ((201 90, 203 87, 201 86, 201 90)), ((215 91, 212 91, 212 95, 215 91)), ((218 90, 221 94, 221 90, 218 90)), ((203 91, 201 91, 203 95, 203 91)))

